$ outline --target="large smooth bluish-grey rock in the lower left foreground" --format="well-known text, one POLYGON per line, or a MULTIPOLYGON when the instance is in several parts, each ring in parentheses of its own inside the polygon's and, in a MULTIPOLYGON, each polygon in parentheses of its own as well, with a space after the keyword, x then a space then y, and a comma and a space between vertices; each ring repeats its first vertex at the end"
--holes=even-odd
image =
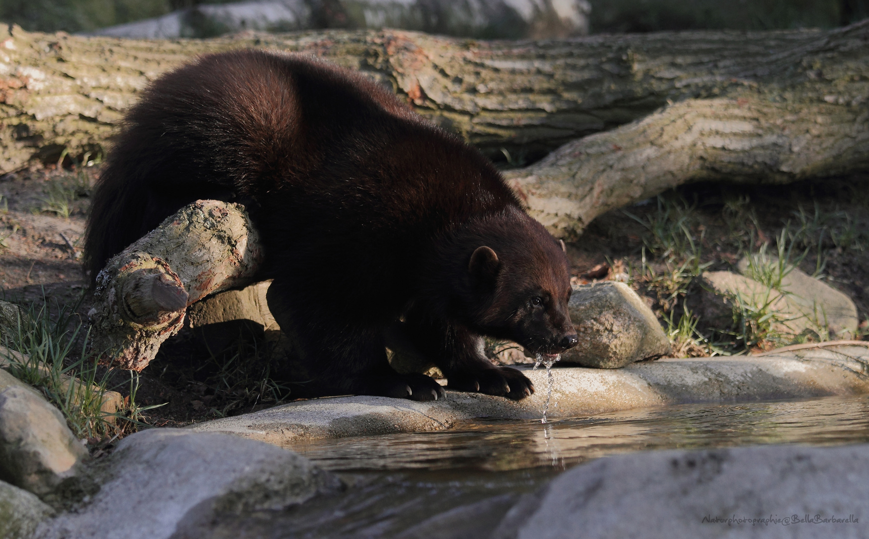
POLYGON ((302 456, 237 436, 149 429, 97 461, 101 485, 90 501, 37 534, 99 539, 163 539, 216 514, 285 509, 343 484, 302 456))

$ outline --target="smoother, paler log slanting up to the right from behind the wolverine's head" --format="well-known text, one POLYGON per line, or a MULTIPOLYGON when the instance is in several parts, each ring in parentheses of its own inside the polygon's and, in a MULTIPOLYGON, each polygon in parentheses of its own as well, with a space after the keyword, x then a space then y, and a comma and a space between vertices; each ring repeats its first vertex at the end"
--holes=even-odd
MULTIPOLYGON (((867 58, 869 21, 770 50, 717 96, 685 98, 567 143, 507 178, 532 216, 574 238, 594 217, 682 183, 790 183, 866 170, 867 58)), ((722 60, 731 62, 739 60, 722 60)))

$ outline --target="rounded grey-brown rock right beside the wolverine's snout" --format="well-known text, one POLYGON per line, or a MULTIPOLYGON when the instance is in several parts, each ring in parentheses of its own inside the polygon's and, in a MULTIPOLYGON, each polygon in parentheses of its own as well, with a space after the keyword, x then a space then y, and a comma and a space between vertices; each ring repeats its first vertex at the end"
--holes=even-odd
POLYGON ((568 309, 580 342, 561 363, 616 369, 670 351, 658 318, 625 283, 574 286, 568 309))

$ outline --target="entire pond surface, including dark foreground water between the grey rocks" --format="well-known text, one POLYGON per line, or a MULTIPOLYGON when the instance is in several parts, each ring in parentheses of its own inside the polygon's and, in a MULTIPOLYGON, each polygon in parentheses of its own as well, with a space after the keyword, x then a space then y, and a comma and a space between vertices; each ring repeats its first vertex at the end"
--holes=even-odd
MULTIPOLYGON (((342 496, 282 512, 227 517, 227 537, 410 537, 472 521, 492 529, 522 494, 564 469, 600 456, 651 449, 706 449, 768 443, 869 442, 869 396, 739 404, 685 404, 575 419, 478 421, 443 432, 318 440, 288 446, 350 485, 342 496), (451 520, 453 519, 453 520, 451 520), (454 520, 458 519, 458 520, 454 520)), ((473 535, 473 534, 472 534, 473 535)))

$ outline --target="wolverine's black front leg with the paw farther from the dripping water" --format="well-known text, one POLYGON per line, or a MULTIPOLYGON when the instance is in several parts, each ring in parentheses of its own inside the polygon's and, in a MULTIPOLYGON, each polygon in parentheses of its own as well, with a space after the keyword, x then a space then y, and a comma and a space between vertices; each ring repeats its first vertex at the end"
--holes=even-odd
MULTIPOLYGON (((295 361, 310 379, 302 396, 374 395, 431 401, 441 385, 424 375, 395 372, 387 360, 383 329, 335 313, 335 305, 308 297, 297 281, 275 279, 269 309, 293 345, 295 361)), ((292 392, 292 388, 290 389, 292 392)))

